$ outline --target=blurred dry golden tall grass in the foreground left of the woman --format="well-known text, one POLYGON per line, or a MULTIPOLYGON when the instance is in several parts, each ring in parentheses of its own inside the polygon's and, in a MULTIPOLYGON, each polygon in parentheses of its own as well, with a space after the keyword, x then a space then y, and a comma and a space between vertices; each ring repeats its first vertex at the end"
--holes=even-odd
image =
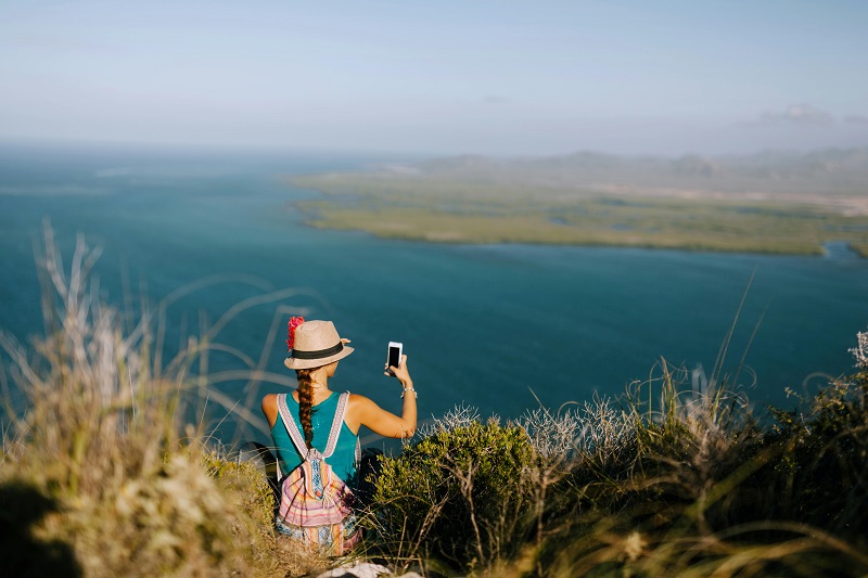
MULTIPOLYGON (((3 389, 23 393, 0 453, 7 576, 298 576, 324 561, 275 536, 271 490, 187 423, 202 391, 191 342, 158 361, 154 316, 101 303, 99 252, 79 239, 68 272, 50 229, 39 259, 46 334, 0 333, 3 389), (9 573, 9 574, 8 574, 9 573)), ((205 378, 206 381, 206 378, 205 378)), ((10 396, 7 396, 10 398, 10 396)))

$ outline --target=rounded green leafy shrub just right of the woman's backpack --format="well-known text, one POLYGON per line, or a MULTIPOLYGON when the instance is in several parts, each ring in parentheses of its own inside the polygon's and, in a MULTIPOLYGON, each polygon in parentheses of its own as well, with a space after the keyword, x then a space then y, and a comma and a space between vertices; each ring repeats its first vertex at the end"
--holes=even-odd
POLYGON ((470 421, 442 427, 384 458, 375 529, 386 547, 475 567, 527 539, 534 449, 515 425, 470 421))

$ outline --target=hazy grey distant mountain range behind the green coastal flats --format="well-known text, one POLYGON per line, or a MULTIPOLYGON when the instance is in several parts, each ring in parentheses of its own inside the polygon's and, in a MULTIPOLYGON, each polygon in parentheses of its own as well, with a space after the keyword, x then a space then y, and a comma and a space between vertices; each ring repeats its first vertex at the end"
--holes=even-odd
POLYGON ((462 155, 404 167, 420 176, 552 188, 677 189, 868 195, 868 149, 748 156, 562 156, 495 158, 462 155))

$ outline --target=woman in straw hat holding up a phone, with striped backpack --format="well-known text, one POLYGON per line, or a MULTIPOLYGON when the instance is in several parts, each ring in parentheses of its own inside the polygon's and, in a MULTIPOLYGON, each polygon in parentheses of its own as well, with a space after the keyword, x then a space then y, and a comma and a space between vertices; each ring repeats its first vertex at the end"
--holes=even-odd
POLYGON ((417 396, 407 356, 401 356, 399 365, 387 367, 385 373, 401 385, 400 416, 365 396, 348 391, 339 395, 329 388, 337 362, 353 352, 347 343, 349 339, 342 339, 331 321, 292 318, 286 341, 291 352, 284 364, 295 370, 298 388, 290 395, 263 398, 263 413, 285 476, 277 528, 335 554, 358 540, 352 505, 354 488, 360 481, 359 428, 363 425, 394 438, 409 438, 416 432, 417 396))

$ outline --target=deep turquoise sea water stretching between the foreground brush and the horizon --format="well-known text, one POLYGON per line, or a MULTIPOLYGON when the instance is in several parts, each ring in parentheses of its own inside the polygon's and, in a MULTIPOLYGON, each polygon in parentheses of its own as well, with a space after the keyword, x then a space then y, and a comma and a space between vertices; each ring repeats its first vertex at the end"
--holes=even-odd
MULTIPOLYGON (((840 246, 807 258, 429 245, 301 223, 293 202, 317 193, 281 176, 384 159, 0 147, 0 326, 20 338, 41 327, 33 247, 48 217, 67 257, 79 232, 103 248, 97 273, 112 303, 125 294, 158 300, 222 275, 169 308, 174 335, 193 331, 202 316, 213 323, 244 298, 297 287, 220 335, 258 359, 279 323, 266 351, 269 371, 285 371, 285 320, 304 308, 308 318, 333 319, 356 347, 341 363, 337 387, 396 411, 398 386, 381 368, 386 344, 404 342, 422 416, 464 403, 510 418, 536 408, 535 396, 552 408, 595 393, 615 396, 662 357, 710 372, 737 314, 727 367, 746 350, 751 371, 739 381, 755 377, 749 396, 757 404, 791 403, 784 388, 810 390, 822 382, 815 374, 852 370, 847 349, 868 327, 868 261, 840 246)), ((218 369, 233 363, 213 359, 218 369)), ((220 387, 255 412, 263 393, 279 389, 220 387)))

